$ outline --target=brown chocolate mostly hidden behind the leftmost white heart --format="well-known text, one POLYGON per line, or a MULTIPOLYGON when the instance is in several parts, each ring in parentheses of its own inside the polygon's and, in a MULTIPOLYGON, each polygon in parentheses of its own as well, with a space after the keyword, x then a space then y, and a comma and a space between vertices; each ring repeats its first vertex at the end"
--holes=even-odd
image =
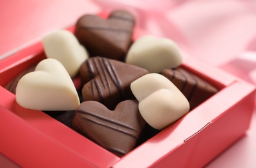
POLYGON ((17 83, 19 82, 21 77, 25 76, 25 74, 28 74, 29 72, 33 72, 36 68, 36 65, 37 64, 32 65, 31 67, 27 68, 26 70, 23 70, 23 72, 21 72, 19 75, 17 75, 16 78, 12 79, 12 81, 10 81, 9 83, 7 83, 5 85, 5 89, 9 90, 13 94, 16 94, 17 83))

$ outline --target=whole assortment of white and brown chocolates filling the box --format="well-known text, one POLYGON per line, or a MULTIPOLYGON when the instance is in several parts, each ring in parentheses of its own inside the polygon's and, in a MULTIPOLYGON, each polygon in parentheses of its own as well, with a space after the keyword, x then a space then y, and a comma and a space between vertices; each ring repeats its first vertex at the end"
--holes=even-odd
POLYGON ((74 35, 60 30, 44 37, 47 59, 6 89, 22 107, 42 110, 122 157, 218 92, 182 67, 170 39, 132 41, 134 24, 123 10, 107 19, 80 17, 74 35))

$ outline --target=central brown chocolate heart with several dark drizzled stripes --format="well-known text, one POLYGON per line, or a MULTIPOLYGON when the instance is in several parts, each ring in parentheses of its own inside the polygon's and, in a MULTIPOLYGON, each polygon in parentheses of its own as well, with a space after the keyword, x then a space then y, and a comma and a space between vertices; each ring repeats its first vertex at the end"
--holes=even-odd
POLYGON ((83 101, 99 101, 114 109, 120 101, 134 99, 130 84, 147 73, 144 68, 114 59, 89 58, 80 68, 83 101))

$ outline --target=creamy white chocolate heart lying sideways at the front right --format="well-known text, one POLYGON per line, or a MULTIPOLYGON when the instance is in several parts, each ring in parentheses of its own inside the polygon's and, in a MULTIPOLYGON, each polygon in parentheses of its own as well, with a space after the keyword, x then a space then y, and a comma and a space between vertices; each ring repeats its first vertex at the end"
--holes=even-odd
POLYGON ((140 114, 155 129, 164 129, 189 111, 186 97, 160 74, 136 79, 131 83, 131 90, 139 101, 140 114))

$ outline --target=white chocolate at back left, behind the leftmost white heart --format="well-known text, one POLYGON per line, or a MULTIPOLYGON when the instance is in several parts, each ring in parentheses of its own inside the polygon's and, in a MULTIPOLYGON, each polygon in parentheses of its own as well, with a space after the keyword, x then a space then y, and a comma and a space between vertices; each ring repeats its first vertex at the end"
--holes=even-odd
POLYGON ((78 74, 83 61, 89 58, 85 47, 68 30, 52 32, 43 37, 42 43, 47 58, 61 62, 71 78, 78 74))

